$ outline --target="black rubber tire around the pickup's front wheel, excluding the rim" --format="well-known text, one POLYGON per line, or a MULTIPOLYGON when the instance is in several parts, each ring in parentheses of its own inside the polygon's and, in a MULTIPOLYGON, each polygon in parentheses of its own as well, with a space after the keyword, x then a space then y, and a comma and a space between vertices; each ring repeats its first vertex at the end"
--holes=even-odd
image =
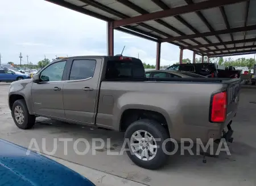
POLYGON ((20 129, 31 129, 32 126, 35 125, 35 115, 30 115, 28 113, 27 110, 27 105, 25 100, 16 100, 13 104, 13 108, 11 109, 11 115, 13 117, 14 123, 17 127, 19 127, 20 129), (14 116, 14 110, 16 108, 16 106, 20 106, 20 108, 23 111, 23 115, 24 115, 24 121, 22 124, 19 124, 14 116))

